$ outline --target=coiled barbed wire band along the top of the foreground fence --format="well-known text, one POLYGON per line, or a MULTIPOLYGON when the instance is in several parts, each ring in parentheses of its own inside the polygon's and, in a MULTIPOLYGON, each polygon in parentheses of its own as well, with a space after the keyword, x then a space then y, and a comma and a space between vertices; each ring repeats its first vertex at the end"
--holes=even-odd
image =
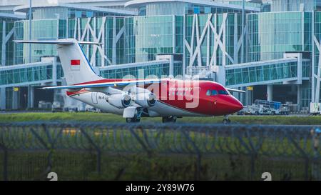
POLYGON ((0 124, 0 145, 24 150, 311 157, 316 150, 320 154, 311 134, 315 128, 317 126, 29 122, 0 124))

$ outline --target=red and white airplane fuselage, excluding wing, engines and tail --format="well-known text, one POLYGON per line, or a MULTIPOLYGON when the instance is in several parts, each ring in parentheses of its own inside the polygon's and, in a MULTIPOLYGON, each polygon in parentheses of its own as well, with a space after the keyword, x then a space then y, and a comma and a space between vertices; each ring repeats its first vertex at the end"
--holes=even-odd
MULTIPOLYGON (((122 79, 103 79, 83 84, 93 84, 122 79)), ((141 86, 156 95, 153 106, 146 107, 148 116, 223 116, 233 114, 243 105, 235 99, 224 86, 213 81, 183 81, 163 79, 161 83, 141 86)), ((124 109, 108 103, 108 95, 102 92, 80 91, 67 92, 68 96, 83 101, 102 111, 122 115, 124 109)), ((135 104, 135 103, 134 103, 135 104)), ((138 105, 139 106, 139 105, 138 105)))

